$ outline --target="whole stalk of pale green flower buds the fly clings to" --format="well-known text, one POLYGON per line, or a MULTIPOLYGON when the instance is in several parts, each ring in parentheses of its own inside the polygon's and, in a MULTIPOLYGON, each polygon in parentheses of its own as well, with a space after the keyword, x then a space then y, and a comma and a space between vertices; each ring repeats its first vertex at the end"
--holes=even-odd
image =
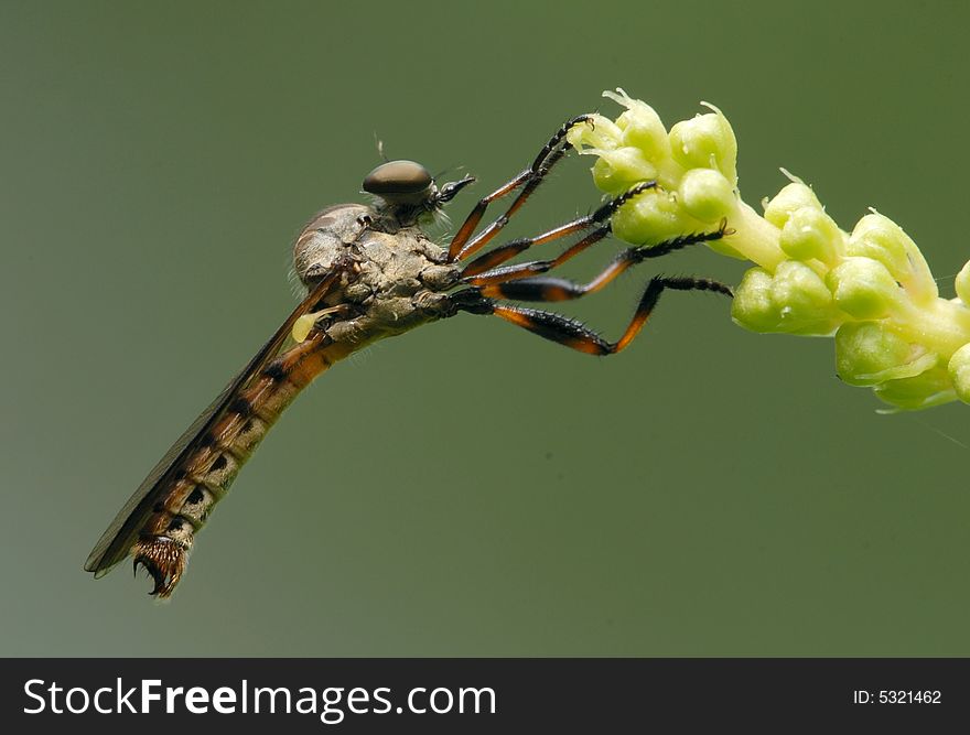
POLYGON ((737 324, 834 335, 842 380, 872 387, 896 410, 970 402, 970 263, 957 277, 957 298, 941 299, 896 224, 873 212, 845 233, 794 177, 761 216, 737 193, 737 142, 720 110, 708 105, 710 112, 668 132, 649 105, 617 91, 604 93, 626 108, 616 120, 595 116, 569 137, 597 156, 593 180, 611 196, 658 184, 616 213, 616 237, 656 244, 726 218, 729 235, 710 247, 755 263, 735 290, 737 324))

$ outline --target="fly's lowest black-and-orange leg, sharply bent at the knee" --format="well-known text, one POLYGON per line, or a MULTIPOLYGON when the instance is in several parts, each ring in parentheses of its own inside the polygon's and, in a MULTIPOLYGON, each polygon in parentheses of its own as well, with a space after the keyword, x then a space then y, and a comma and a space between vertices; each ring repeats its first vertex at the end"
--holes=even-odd
POLYGON ((666 289, 673 289, 676 291, 713 291, 714 293, 723 293, 726 296, 732 295, 731 289, 718 281, 655 275, 647 284, 647 289, 644 291, 639 304, 637 304, 633 318, 616 342, 607 342, 580 322, 561 314, 496 303, 492 299, 482 296, 476 289, 460 291, 454 294, 454 298, 455 304, 461 311, 467 311, 473 314, 495 314, 516 326, 538 334, 540 337, 558 342, 560 345, 565 345, 586 355, 613 355, 624 349, 639 334, 654 307, 657 305, 660 294, 666 289))

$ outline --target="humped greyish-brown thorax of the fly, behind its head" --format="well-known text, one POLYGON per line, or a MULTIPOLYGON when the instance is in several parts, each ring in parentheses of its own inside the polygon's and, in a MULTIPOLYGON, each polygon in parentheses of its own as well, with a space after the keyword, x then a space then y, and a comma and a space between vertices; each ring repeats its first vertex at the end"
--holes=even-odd
POLYGON ((354 314, 328 329, 333 339, 366 343, 449 315, 441 291, 457 281, 459 269, 419 225, 362 204, 327 207, 297 239, 293 266, 311 289, 347 256, 355 272, 326 303, 348 304, 354 314))

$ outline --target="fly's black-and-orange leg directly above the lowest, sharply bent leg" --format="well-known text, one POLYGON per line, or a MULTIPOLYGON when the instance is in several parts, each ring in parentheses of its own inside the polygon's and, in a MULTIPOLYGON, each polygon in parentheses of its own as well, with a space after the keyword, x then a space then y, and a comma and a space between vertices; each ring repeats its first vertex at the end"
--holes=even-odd
MULTIPOLYGON (((660 258, 681 248, 700 242, 710 242, 721 239, 730 235, 732 230, 728 229, 728 220, 722 219, 716 230, 710 233, 694 233, 692 235, 683 235, 670 240, 664 240, 655 246, 640 246, 629 248, 621 252, 613 261, 606 266, 603 271, 597 274, 589 283, 575 283, 568 279, 552 277, 536 277, 536 273, 546 272, 560 264, 563 256, 572 257, 570 250, 582 244, 578 242, 573 248, 567 250, 560 258, 547 261, 534 261, 522 263, 521 266, 513 266, 505 269, 504 273, 491 271, 479 277, 478 280, 470 279, 472 285, 479 285, 483 296, 494 299, 509 299, 511 301, 569 301, 579 299, 588 293, 595 293, 605 285, 615 280, 621 273, 627 269, 642 263, 650 258, 660 258), (504 278, 503 278, 504 277, 504 278)), ((568 258, 565 258, 568 259, 568 258)), ((725 287, 726 288, 726 287, 725 287)))

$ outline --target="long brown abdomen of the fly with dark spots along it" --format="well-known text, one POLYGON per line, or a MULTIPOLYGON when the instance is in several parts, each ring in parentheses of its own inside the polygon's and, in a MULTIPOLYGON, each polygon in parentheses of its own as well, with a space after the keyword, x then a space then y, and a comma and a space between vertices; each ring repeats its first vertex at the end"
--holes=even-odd
POLYGON ((194 442, 152 508, 131 549, 154 579, 153 595, 172 594, 196 532, 283 409, 317 375, 351 352, 316 334, 269 363, 233 397, 194 442))

